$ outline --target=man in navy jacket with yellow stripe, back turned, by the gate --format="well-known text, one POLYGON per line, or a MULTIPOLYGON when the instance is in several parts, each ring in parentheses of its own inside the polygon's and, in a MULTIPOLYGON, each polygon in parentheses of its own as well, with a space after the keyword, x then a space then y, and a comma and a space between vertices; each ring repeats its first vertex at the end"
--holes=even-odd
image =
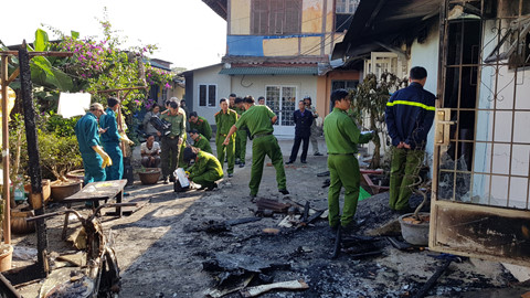
POLYGON ((434 94, 423 88, 427 81, 427 71, 424 67, 412 67, 409 79, 409 87, 396 91, 386 103, 384 111, 393 146, 389 203, 392 210, 400 213, 411 211, 410 185, 414 183, 414 171, 424 160, 436 99, 434 94))

